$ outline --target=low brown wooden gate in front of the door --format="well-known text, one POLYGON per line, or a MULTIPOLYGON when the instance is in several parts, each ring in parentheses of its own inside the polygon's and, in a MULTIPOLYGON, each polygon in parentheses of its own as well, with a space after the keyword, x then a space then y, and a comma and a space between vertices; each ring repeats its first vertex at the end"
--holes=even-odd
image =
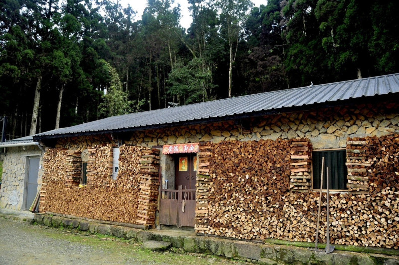
POLYGON ((159 223, 177 227, 194 227, 196 190, 161 189, 159 223))

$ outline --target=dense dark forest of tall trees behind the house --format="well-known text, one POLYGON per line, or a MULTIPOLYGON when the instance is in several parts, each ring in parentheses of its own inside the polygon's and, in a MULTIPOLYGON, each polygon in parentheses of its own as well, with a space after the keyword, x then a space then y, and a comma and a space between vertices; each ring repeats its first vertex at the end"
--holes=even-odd
POLYGON ((172 3, 2 0, 6 138, 399 72, 397 0, 188 0, 187 29, 172 3))

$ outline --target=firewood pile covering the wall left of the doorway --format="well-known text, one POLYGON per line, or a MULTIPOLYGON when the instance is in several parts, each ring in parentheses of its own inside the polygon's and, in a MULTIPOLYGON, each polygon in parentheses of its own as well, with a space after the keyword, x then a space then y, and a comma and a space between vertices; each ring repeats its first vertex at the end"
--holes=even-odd
MULTIPOLYGON (((43 175, 43 183, 46 185, 43 186, 44 189, 42 188, 40 212, 50 211, 92 219, 143 224, 140 222, 143 218, 139 215, 143 214, 140 211, 146 211, 148 218, 145 224, 153 225, 154 223, 151 222, 155 218, 155 211, 153 211, 156 203, 155 196, 151 199, 147 198, 148 202, 139 200, 143 200, 143 194, 153 194, 151 185, 149 186, 148 183, 152 180, 146 178, 151 174, 142 173, 141 160, 143 160, 143 155, 146 156, 149 152, 155 151, 146 151, 148 148, 145 147, 121 146, 120 170, 117 179, 112 180, 112 148, 112 144, 89 148, 88 185, 83 188, 73 185, 68 185, 67 188, 65 186, 69 183, 66 177, 65 165, 68 164, 66 162, 71 157, 76 159, 78 152, 58 148, 47 150, 43 175)), ((76 163, 74 166, 77 170, 76 163)), ((70 172, 75 174, 75 170, 70 172)), ((154 170, 158 169, 152 169, 154 170)), ((153 175, 151 176, 153 178, 153 175)))

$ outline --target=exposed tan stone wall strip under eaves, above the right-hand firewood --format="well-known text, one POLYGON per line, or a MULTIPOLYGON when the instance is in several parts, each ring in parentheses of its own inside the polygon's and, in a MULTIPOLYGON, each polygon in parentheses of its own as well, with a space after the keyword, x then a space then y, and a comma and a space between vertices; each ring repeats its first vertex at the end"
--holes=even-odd
POLYGON ((217 143, 306 137, 317 150, 345 148, 347 137, 380 137, 392 133, 399 133, 399 106, 388 102, 135 132, 126 143, 151 147, 205 141, 217 143))

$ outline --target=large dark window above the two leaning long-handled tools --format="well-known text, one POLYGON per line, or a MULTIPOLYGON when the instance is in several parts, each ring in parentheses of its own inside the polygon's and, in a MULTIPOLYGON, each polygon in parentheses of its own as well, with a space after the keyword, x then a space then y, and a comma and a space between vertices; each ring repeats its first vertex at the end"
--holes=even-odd
POLYGON ((347 190, 347 175, 348 170, 345 165, 346 162, 346 150, 323 150, 313 151, 313 189, 320 189, 320 176, 321 176, 321 164, 322 158, 324 157, 324 170, 323 170, 323 189, 327 188, 327 167, 329 175, 328 188, 330 190, 347 190))

